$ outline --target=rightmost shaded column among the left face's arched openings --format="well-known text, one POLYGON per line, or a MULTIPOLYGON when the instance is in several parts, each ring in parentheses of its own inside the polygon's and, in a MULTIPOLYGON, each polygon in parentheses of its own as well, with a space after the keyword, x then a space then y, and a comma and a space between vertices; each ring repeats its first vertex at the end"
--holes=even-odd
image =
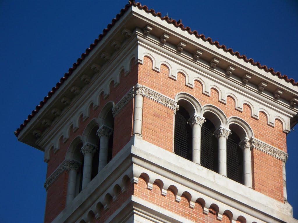
POLYGON ((100 172, 108 163, 109 138, 112 132, 113 129, 105 125, 102 125, 97 130, 97 135, 100 138, 98 172, 100 172))

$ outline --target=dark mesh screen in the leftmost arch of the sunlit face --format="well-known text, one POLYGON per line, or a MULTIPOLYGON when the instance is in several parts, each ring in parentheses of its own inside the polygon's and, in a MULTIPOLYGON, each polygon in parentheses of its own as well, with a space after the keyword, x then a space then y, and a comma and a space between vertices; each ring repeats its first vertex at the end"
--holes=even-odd
POLYGON ((192 160, 191 126, 187 124, 189 114, 182 106, 175 115, 174 152, 178 156, 192 160))

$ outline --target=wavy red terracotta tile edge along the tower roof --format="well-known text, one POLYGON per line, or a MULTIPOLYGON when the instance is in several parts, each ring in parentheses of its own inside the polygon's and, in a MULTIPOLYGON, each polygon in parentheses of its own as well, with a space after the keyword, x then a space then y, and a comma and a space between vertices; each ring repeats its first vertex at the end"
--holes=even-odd
POLYGON ((173 19, 169 18, 168 16, 163 16, 162 17, 162 14, 160 12, 156 13, 153 9, 148 9, 148 7, 146 5, 142 5, 141 3, 135 2, 134 0, 130 0, 130 1, 128 1, 128 4, 126 4, 125 7, 123 9, 121 9, 120 12, 116 15, 116 18, 112 19, 112 22, 110 24, 108 24, 107 28, 103 29, 103 33, 98 36, 98 39, 95 39, 94 43, 92 43, 90 45, 90 47, 86 49, 85 53, 83 53, 81 55, 81 57, 77 59, 77 62, 74 63, 72 65, 72 67, 70 67, 68 69, 68 73, 65 73, 64 77, 60 78, 60 82, 58 82, 56 84, 56 87, 53 87, 52 91, 48 92, 48 96, 44 97, 44 100, 41 101, 39 103, 39 105, 35 107, 35 110, 32 111, 32 114, 28 115, 28 118, 26 120, 24 120, 24 123, 20 125, 20 128, 18 128, 14 132, 15 136, 18 136, 18 134, 27 125, 27 123, 29 123, 29 121, 32 119, 32 117, 34 117, 35 114, 38 113, 38 111, 44 106, 44 104, 47 102, 47 100, 49 100, 49 98, 51 98, 51 96, 59 89, 59 87, 63 84, 63 82, 65 80, 67 80, 67 78, 69 78, 69 76, 72 75, 73 71, 76 70, 76 68, 85 59, 85 57, 93 50, 93 48, 100 42, 100 40, 109 32, 109 30, 114 26, 114 24, 119 20, 119 18, 121 18, 121 16, 132 5, 138 7, 139 9, 145 10, 146 12, 150 12, 154 16, 158 16, 162 20, 166 20, 168 23, 172 23, 174 26, 180 27, 182 30, 187 30, 187 32, 189 32, 190 34, 195 34, 196 37, 201 38, 204 41, 208 41, 210 44, 216 45, 218 48, 221 48, 224 51, 229 52, 232 55, 236 55, 238 58, 243 59, 246 62, 250 62, 252 65, 255 65, 255 66, 257 66, 260 69, 263 69, 265 71, 268 71, 268 72, 272 73, 273 75, 277 75, 279 78, 282 78, 285 81, 290 82, 293 85, 298 86, 298 82, 295 82, 295 80, 293 78, 288 78, 288 76, 286 76, 286 75, 281 75, 281 73, 279 71, 275 72, 273 68, 268 68, 266 65, 261 65, 259 62, 254 62, 254 60, 251 59, 251 58, 247 59, 247 57, 245 55, 240 55, 240 53, 238 51, 234 52, 231 48, 227 49, 225 45, 220 45, 218 43, 218 41, 212 41, 212 39, 210 37, 206 38, 203 34, 198 34, 198 32, 196 30, 192 31, 190 29, 190 27, 188 27, 188 26, 184 27, 184 25, 180 22, 180 20, 177 22, 176 20, 173 20, 173 19))

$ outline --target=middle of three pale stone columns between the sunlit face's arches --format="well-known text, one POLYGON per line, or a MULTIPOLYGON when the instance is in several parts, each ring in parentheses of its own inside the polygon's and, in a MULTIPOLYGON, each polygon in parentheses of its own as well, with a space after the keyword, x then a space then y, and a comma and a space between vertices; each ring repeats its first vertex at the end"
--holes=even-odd
POLYGON ((231 131, 221 126, 214 134, 218 139, 218 173, 226 177, 226 141, 231 131))

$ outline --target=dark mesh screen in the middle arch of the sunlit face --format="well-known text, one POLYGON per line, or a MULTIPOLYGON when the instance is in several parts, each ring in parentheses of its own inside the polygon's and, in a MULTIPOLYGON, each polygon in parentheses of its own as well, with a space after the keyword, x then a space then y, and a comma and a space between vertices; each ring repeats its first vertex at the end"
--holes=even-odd
POLYGON ((218 172, 218 142, 214 131, 214 125, 206 119, 201 128, 201 165, 218 172))

